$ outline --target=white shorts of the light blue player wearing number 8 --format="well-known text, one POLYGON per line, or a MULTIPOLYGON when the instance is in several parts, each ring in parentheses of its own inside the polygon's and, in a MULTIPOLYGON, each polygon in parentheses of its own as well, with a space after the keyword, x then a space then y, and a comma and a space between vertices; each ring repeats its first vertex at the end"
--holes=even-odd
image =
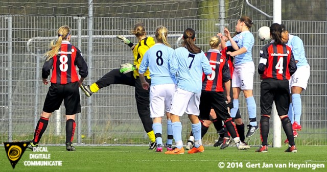
POLYGON ((160 84, 150 87, 150 117, 162 117, 169 111, 176 84, 160 84), (162 106, 165 105, 165 106, 162 106))

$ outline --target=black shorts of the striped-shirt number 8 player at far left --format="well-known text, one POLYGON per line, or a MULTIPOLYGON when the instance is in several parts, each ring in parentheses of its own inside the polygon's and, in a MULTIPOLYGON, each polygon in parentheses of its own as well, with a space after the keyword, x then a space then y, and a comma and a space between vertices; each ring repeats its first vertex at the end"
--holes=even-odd
POLYGON ((66 115, 74 115, 81 112, 78 82, 65 85, 51 83, 48 94, 45 97, 43 111, 52 113, 58 110, 62 101, 64 101, 66 115))

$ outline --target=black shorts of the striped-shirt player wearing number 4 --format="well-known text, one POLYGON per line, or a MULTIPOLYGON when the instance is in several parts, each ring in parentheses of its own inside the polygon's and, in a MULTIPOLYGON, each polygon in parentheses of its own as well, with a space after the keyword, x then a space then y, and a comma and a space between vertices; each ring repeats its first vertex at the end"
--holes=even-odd
POLYGON ((260 87, 261 115, 271 114, 273 101, 275 102, 278 115, 287 115, 290 106, 288 80, 268 78, 262 80, 260 87))

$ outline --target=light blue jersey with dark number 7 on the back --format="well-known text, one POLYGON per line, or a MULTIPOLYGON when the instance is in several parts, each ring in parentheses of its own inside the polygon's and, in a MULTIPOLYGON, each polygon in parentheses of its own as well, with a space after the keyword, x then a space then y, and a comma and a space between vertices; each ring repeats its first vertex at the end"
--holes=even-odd
POLYGON ((177 75, 177 88, 201 93, 202 73, 210 75, 212 68, 208 58, 201 53, 193 54, 185 47, 176 48, 170 63, 170 72, 177 75))

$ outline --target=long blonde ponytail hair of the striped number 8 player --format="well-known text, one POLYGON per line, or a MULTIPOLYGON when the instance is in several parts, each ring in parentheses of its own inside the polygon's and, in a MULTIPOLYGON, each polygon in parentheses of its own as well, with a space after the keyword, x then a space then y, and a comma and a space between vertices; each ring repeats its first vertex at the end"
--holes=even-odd
POLYGON ((61 47, 62 40, 66 40, 68 36, 71 34, 71 28, 68 26, 62 26, 57 31, 58 39, 56 43, 55 41, 50 42, 50 48, 51 50, 46 52, 44 56, 46 57, 46 61, 49 61, 51 58, 53 58, 55 55, 57 55, 59 48, 61 47))

